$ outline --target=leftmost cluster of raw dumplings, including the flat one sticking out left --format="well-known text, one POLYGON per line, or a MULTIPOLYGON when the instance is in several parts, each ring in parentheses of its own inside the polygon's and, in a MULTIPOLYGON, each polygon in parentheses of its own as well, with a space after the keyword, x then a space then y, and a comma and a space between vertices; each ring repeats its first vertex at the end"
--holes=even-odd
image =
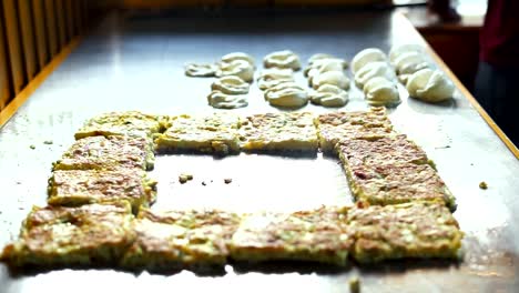
POLYGON ((207 95, 210 105, 235 109, 248 105, 247 93, 254 79, 255 61, 243 52, 228 53, 215 64, 190 63, 185 65, 189 77, 216 77, 207 95))

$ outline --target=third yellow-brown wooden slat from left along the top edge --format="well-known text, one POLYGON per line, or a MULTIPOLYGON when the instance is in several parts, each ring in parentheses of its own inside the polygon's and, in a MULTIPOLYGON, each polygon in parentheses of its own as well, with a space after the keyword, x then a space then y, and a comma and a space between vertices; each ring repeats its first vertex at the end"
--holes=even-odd
POLYGON ((47 44, 45 12, 43 0, 32 0, 32 17, 40 70, 49 62, 49 47, 47 44))

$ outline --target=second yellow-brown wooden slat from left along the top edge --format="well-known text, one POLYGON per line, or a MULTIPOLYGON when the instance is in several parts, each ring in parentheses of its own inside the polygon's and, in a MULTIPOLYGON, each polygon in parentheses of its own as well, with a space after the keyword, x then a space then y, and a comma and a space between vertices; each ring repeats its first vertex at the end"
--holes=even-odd
POLYGON ((30 81, 38 70, 37 47, 34 46, 34 26, 32 23, 30 1, 18 1, 18 16, 22 36, 23 55, 26 60, 27 80, 30 81))

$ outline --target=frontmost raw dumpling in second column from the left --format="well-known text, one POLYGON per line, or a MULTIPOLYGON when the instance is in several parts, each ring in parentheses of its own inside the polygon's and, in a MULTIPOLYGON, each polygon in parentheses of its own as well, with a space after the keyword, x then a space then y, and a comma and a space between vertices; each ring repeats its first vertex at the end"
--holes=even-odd
POLYGON ((294 82, 284 82, 265 91, 265 100, 272 105, 301 108, 308 103, 308 93, 294 82))

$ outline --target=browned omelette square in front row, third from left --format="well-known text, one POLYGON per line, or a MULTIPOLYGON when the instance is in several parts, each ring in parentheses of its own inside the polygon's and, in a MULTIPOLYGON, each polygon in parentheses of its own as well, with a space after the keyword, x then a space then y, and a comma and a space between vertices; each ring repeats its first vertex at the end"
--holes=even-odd
POLYGON ((243 262, 301 261, 346 265, 353 245, 347 208, 323 206, 295 213, 245 216, 231 242, 231 257, 243 262))

